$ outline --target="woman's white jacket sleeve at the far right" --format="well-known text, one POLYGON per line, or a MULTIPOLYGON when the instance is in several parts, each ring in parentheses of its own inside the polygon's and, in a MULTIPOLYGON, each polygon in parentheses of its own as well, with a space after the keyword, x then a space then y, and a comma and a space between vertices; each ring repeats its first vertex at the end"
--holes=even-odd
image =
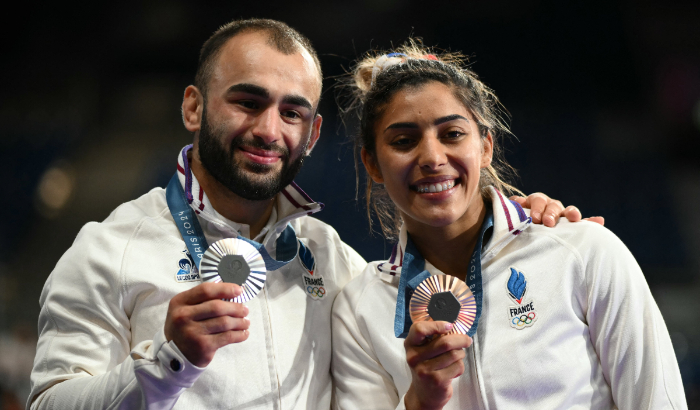
MULTIPOLYGON (((592 343, 613 399, 624 409, 687 409, 666 324, 644 274, 610 231, 583 255, 592 343)), ((596 232, 597 234, 598 232, 596 232)))

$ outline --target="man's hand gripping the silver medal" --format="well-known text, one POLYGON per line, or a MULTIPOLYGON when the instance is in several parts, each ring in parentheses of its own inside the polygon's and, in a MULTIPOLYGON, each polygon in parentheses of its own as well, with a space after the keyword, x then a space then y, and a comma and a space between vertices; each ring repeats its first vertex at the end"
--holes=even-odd
POLYGON ((242 292, 234 283, 206 282, 175 295, 165 319, 166 339, 193 365, 207 366, 219 348, 248 339, 248 308, 222 300, 242 292))

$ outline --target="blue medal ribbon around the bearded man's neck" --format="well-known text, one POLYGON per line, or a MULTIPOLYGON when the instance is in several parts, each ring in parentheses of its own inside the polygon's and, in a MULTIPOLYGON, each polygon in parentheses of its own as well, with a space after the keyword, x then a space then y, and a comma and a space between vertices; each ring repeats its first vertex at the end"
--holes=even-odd
MULTIPOLYGON (((182 189, 177 173, 170 179, 168 187, 165 189, 165 198, 168 201, 168 208, 175 220, 177 229, 180 231, 182 239, 184 239, 185 245, 187 245, 187 250, 190 252, 190 255, 192 255, 192 259, 194 259, 194 262, 197 264, 197 270, 199 270, 202 256, 209 245, 207 244, 207 239, 204 237, 202 227, 199 225, 197 215, 195 215, 187 201, 185 191, 182 189)), ((299 247, 306 251, 306 246, 297 239, 296 232, 294 232, 294 228, 292 228, 290 224, 287 224, 287 227, 282 231, 279 238, 277 238, 277 257, 279 259, 270 256, 267 249, 265 249, 261 243, 242 236, 239 236, 238 239, 248 242, 260 252, 265 262, 265 269, 268 271, 277 270, 291 262, 297 256, 297 243, 299 247)))

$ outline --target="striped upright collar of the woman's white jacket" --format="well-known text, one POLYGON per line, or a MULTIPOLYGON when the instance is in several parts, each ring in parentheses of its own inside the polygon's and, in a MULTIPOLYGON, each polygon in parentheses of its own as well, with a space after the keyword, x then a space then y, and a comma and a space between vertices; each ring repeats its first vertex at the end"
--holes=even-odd
MULTIPOLYGON (((525 213, 520 204, 505 198, 494 187, 489 187, 488 193, 493 209, 493 232, 489 241, 482 247, 482 264, 496 256, 501 249, 532 223, 532 218, 525 213)), ((401 276, 407 242, 408 232, 406 226, 402 225, 399 232, 399 242, 394 245, 391 256, 387 261, 377 265, 379 276, 386 282, 394 283, 401 276)), ((432 264, 426 261, 426 269, 431 271, 431 268, 432 264)), ((398 281, 395 283, 398 284, 398 281)))

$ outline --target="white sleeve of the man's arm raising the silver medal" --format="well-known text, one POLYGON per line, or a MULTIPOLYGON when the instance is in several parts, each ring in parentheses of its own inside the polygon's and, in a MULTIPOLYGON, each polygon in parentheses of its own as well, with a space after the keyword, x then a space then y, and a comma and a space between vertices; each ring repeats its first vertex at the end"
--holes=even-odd
POLYGON ((83 228, 44 285, 27 408, 170 409, 203 371, 162 329, 132 348, 120 276, 130 232, 100 225, 83 228))

